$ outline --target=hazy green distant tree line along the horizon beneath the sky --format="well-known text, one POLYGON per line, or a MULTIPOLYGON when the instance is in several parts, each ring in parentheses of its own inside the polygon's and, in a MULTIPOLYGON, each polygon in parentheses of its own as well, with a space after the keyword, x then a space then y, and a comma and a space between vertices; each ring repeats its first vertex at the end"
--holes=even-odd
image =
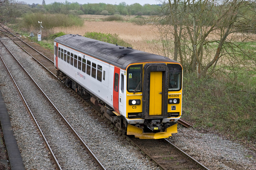
POLYGON ((118 5, 105 4, 105 3, 86 3, 79 4, 77 2, 54 2, 51 4, 45 4, 44 0, 42 4, 32 5, 26 2, 18 2, 20 9, 24 12, 49 12, 49 13, 62 13, 62 14, 91 14, 91 15, 158 15, 159 7, 161 5, 150 5, 134 3, 131 5, 126 2, 120 2, 118 5))

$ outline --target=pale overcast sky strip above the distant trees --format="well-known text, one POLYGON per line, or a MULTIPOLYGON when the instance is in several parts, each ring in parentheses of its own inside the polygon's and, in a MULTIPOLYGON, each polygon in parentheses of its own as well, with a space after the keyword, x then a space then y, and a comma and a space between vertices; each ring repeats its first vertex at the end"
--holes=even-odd
MULTIPOLYGON (((43 0, 19 0, 19 2, 27 2, 27 4, 32 5, 33 3, 35 4, 42 4, 43 0)), ((46 4, 51 4, 53 2, 65 2, 66 0, 44 0, 46 4)), ((140 5, 144 4, 160 4, 158 0, 68 0, 68 2, 78 2, 80 4, 87 4, 87 3, 105 3, 105 4, 116 4, 118 5, 120 2, 125 2, 128 5, 134 4, 134 3, 139 3, 140 5)))

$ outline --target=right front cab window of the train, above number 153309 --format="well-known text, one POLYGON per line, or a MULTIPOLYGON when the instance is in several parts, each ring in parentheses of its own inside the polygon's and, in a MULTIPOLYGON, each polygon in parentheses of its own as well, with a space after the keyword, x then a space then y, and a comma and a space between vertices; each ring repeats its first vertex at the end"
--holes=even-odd
POLYGON ((181 89, 182 67, 179 64, 167 64, 169 68, 169 91, 181 89))

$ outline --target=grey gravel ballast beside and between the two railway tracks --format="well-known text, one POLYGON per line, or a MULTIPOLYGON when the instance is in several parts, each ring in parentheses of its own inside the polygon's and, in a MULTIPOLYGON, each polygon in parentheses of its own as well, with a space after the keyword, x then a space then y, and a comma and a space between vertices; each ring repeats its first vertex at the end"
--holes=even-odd
MULTIPOLYGON (((19 53, 19 61, 41 86, 69 123, 80 134, 107 169, 158 169, 139 151, 128 144, 92 109, 70 92, 60 81, 49 76, 30 56, 9 42, 19 53)), ((2 48, 2 46, 1 46, 2 48)), ((4 55, 4 50, 0 54, 4 55)), ((27 169, 54 169, 40 135, 23 102, 0 61, 0 89, 11 117, 11 123, 27 169), (38 147, 38 144, 41 144, 38 147)), ((18 76, 18 75, 17 75, 18 76)), ((243 145, 219 134, 201 133, 178 126, 178 133, 169 138, 176 146, 203 163, 209 169, 256 169, 255 153, 243 145)), ((70 162, 76 169, 76 160, 70 162)))

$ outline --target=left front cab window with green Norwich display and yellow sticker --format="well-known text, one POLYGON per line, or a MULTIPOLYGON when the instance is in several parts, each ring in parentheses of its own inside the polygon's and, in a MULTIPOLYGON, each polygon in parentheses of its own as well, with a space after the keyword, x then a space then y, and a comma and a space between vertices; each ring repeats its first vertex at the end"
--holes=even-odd
POLYGON ((132 65, 127 69, 127 90, 129 92, 141 92, 142 65, 132 65))

